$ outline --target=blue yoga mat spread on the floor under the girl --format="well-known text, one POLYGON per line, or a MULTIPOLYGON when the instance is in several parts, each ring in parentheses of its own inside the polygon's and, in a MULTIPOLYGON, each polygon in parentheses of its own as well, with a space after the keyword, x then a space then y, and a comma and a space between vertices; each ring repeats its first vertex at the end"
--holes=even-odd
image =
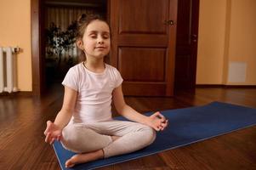
MULTIPOLYGON (((161 113, 168 118, 170 124, 166 130, 157 133, 155 142, 150 146, 130 154, 91 161, 69 169, 81 170, 105 167, 192 144, 256 124, 256 109, 220 102, 185 109, 161 111, 161 113)), ((147 114, 151 115, 151 113, 147 114)), ((123 117, 117 117, 117 119, 124 120, 123 117)), ((65 168, 65 161, 74 153, 65 150, 60 142, 54 142, 54 150, 60 162, 60 167, 63 170, 68 169, 65 168)))

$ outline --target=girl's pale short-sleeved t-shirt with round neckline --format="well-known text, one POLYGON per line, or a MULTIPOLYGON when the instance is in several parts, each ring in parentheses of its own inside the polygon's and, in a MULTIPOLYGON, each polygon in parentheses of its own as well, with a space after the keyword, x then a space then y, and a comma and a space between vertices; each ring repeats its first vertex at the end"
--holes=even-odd
POLYGON ((71 121, 74 123, 111 120, 112 91, 122 83, 115 67, 105 64, 105 71, 94 73, 82 63, 70 68, 63 85, 77 91, 77 102, 71 121))

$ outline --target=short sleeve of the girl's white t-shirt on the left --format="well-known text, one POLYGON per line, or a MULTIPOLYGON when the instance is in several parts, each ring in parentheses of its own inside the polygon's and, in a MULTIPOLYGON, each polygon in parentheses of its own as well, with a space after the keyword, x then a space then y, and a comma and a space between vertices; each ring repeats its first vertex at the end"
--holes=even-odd
POLYGON ((78 91, 78 77, 78 71, 75 69, 75 67, 71 67, 70 70, 67 71, 62 85, 78 91))

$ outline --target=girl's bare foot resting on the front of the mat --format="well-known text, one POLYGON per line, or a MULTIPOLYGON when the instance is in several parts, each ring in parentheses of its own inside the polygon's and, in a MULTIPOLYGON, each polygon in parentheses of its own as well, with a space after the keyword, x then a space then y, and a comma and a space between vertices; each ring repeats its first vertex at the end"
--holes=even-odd
POLYGON ((77 154, 72 156, 71 159, 65 161, 65 167, 74 167, 78 163, 85 163, 88 161, 95 161, 104 157, 103 150, 96 150, 84 154, 77 154))

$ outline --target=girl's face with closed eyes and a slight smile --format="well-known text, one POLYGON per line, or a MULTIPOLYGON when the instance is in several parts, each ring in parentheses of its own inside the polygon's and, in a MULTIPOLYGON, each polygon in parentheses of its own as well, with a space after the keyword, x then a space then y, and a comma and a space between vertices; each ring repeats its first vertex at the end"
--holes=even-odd
POLYGON ((84 31, 81 45, 87 58, 104 58, 111 48, 109 26, 101 20, 92 21, 84 31))

